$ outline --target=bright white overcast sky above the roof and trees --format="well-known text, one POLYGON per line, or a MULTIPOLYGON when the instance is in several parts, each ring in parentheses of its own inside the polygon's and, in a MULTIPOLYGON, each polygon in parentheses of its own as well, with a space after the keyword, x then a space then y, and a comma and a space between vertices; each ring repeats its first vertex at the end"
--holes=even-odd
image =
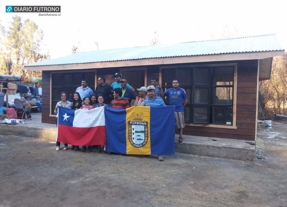
MULTIPOLYGON (((160 44, 225 37, 277 34, 287 48, 283 1, 1 1, 0 20, 8 29, 12 17, 34 21, 43 30, 42 53, 50 58, 79 52, 151 45, 155 31, 160 44), (5 6, 61 6, 61 16, 6 13, 5 6), (285 27, 285 28, 284 28, 285 27), (229 35, 228 35, 229 34, 229 35)), ((42 14, 42 13, 41 13, 42 14)), ((53 14, 53 13, 51 13, 53 14)))

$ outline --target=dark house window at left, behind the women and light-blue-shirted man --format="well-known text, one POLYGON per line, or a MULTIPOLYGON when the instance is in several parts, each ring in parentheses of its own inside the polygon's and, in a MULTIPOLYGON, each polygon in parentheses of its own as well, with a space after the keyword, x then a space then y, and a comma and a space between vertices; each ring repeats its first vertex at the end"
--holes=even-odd
MULTIPOLYGON (((60 94, 65 91, 68 94, 67 100, 72 100, 72 95, 77 87, 81 86, 82 79, 88 80, 88 86, 94 91, 95 72, 75 72, 75 73, 52 73, 52 109, 61 101, 60 94)), ((52 114, 54 110, 52 110, 52 114)))

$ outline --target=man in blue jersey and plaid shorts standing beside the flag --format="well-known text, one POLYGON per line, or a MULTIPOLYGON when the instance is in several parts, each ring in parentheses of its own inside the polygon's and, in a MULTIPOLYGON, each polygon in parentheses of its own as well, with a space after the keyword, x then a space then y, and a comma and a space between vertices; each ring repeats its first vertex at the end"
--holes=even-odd
POLYGON ((185 90, 179 87, 179 80, 177 78, 172 80, 172 87, 162 93, 161 85, 158 85, 158 89, 160 91, 160 96, 164 97, 167 96, 169 97, 169 105, 174 106, 174 114, 175 114, 175 121, 177 125, 177 129, 179 129, 179 142, 183 141, 182 137, 182 131, 183 128, 185 127, 184 125, 184 118, 183 118, 183 108, 187 104, 187 95, 185 93, 185 90))

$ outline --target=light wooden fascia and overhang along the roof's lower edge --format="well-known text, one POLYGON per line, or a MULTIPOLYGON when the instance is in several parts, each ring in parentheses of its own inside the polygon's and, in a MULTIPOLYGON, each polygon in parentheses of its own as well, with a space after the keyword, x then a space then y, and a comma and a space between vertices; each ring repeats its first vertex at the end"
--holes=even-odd
POLYGON ((284 50, 265 51, 265 52, 248 52, 248 53, 227 53, 227 54, 216 54, 216 55, 161 57, 161 58, 146 58, 146 59, 137 59, 137 60, 80 63, 80 64, 24 66, 24 69, 31 70, 31 71, 79 70, 79 69, 92 69, 92 68, 114 68, 114 67, 165 65, 165 64, 214 62, 214 61, 260 60, 261 64, 259 65, 259 78, 263 78, 262 80, 267 80, 270 78, 270 74, 271 74, 272 57, 284 55, 284 54, 285 54, 284 50), (261 74, 261 77, 260 77, 260 74, 261 74))

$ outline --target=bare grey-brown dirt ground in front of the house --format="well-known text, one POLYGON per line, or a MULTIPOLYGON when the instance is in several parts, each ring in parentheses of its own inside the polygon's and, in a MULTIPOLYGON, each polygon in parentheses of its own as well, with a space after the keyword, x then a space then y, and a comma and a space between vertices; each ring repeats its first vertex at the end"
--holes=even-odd
POLYGON ((258 128, 254 162, 180 153, 159 162, 1 135, 0 207, 287 206, 287 124, 260 126, 268 152, 258 128))

